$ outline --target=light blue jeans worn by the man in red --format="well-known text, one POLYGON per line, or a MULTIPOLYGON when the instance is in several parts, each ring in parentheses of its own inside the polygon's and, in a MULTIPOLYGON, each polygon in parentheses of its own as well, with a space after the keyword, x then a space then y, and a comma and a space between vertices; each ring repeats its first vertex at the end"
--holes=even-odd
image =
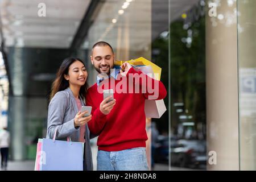
POLYGON ((127 150, 107 152, 98 151, 98 171, 147 171, 146 148, 130 148, 127 150))

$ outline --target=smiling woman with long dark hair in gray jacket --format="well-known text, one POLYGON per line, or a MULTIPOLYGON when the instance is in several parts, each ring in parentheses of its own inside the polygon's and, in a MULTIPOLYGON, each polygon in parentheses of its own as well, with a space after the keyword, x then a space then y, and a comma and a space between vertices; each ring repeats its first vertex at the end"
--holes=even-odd
POLYGON ((51 102, 48 109, 47 138, 85 142, 84 169, 92 170, 92 152, 90 149, 89 129, 87 122, 92 115, 82 117, 85 106, 88 73, 82 60, 68 57, 61 63, 57 77, 52 84, 51 102))

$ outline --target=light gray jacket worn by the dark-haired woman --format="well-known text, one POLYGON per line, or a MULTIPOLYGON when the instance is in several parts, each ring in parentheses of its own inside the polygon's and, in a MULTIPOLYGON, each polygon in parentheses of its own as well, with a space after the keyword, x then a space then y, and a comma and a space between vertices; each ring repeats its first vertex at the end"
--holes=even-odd
MULTIPOLYGON (((81 99, 82 106, 85 106, 81 99)), ((74 118, 79 112, 75 97, 70 88, 57 92, 49 103, 47 138, 53 138, 57 127, 57 140, 66 140, 71 137, 74 142, 79 141, 80 130, 74 126, 74 118)), ((90 148, 90 131, 85 125, 84 170, 92 171, 92 150, 90 148)))

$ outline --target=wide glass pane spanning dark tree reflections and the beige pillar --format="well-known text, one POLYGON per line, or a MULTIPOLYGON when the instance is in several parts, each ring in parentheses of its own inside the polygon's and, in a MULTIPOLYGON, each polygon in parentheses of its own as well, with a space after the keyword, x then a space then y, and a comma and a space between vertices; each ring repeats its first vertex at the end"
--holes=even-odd
POLYGON ((170 1, 171 169, 239 169, 237 3, 170 1))

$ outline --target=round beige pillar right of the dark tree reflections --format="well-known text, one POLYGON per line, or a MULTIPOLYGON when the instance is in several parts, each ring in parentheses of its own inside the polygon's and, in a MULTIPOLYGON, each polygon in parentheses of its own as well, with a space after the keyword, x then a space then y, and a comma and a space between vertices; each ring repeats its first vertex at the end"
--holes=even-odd
POLYGON ((235 9, 236 3, 230 6, 227 1, 220 1, 217 15, 223 16, 210 17, 207 11, 205 17, 207 151, 217 154, 217 164, 207 163, 208 170, 239 169, 235 9))

